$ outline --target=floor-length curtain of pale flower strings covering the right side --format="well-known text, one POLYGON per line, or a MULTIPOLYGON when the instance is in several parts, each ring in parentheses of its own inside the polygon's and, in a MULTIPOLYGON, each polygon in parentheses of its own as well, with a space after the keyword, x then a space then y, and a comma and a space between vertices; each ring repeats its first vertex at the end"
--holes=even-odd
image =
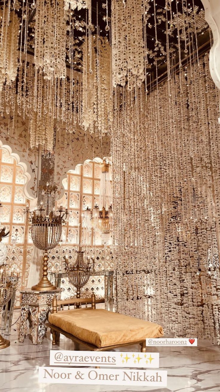
POLYGON ((220 343, 220 127, 209 59, 115 96, 117 310, 220 343))

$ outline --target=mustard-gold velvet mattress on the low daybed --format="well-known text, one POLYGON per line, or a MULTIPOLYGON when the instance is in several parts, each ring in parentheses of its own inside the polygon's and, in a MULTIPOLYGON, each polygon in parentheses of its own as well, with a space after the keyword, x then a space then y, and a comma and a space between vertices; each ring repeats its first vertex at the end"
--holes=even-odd
POLYGON ((49 323, 99 348, 163 335, 158 324, 104 309, 60 311, 49 314, 49 323))

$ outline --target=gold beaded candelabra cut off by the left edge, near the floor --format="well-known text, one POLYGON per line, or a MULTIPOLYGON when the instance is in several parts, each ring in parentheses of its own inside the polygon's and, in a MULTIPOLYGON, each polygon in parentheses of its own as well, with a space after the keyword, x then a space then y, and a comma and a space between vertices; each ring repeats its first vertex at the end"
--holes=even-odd
MULTIPOLYGON (((2 312, 2 308, 4 305, 7 304, 7 302, 11 299, 11 296, 13 294, 13 290, 17 287, 18 285, 18 274, 17 276, 14 275, 13 272, 7 274, 7 265, 3 264, 1 265, 0 268, 0 314, 2 312)), ((10 346, 10 341, 7 339, 4 339, 2 335, 0 334, 0 350, 2 348, 6 348, 10 346)))

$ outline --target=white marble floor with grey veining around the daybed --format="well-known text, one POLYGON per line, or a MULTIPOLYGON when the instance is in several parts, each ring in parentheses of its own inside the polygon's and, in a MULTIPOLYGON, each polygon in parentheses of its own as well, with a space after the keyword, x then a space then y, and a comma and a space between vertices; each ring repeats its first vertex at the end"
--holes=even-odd
MULTIPOLYGON (((15 321, 18 316, 18 311, 14 312, 15 321)), ((6 337, 11 341, 10 347, 0 350, 0 392, 220 392, 220 347, 212 346, 210 341, 198 341, 198 347, 194 348, 152 348, 153 352, 160 353, 160 370, 168 371, 166 388, 42 384, 38 383, 38 367, 49 366, 50 332, 41 345, 33 345, 29 336, 24 343, 19 343, 18 332, 19 321, 6 337)), ((74 350, 74 343, 61 336, 60 349, 74 350)), ((130 346, 127 350, 139 351, 139 346, 130 346)))

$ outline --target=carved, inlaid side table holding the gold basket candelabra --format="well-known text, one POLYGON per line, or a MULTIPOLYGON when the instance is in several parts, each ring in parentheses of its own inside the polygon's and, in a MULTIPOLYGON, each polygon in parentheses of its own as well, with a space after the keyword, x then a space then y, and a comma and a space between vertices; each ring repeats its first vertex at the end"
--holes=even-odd
POLYGON ((33 344, 41 344, 47 332, 45 321, 52 304, 54 294, 60 299, 61 289, 51 291, 34 291, 25 289, 21 291, 21 320, 19 341, 23 342, 27 334, 27 318, 31 315, 30 334, 33 344))

